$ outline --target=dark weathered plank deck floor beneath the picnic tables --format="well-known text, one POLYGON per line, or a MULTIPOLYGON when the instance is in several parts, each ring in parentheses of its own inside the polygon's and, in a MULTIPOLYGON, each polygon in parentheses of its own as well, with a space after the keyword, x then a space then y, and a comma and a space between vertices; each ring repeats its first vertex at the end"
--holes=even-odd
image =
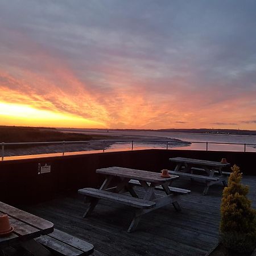
MULTIPOLYGON (((256 208, 256 176, 245 176, 242 183, 250 186, 249 198, 256 208)), ((134 233, 127 233, 133 208, 101 200, 92 216, 84 219, 86 205, 73 192, 22 208, 53 222, 57 229, 92 243, 95 256, 205 255, 218 241, 223 186, 213 185, 203 196, 202 183, 179 179, 172 185, 191 189, 190 195, 181 197, 181 212, 170 205, 148 213, 134 233)))

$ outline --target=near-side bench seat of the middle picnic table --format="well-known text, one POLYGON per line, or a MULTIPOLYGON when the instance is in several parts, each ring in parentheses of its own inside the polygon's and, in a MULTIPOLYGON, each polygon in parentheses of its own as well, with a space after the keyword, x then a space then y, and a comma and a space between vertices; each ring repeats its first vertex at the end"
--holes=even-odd
POLYGON ((109 201, 114 201, 116 203, 130 205, 132 207, 141 209, 150 209, 155 207, 155 202, 153 201, 148 201, 137 197, 113 193, 96 188, 82 188, 79 189, 78 192, 84 196, 96 197, 97 199, 108 199, 109 201))

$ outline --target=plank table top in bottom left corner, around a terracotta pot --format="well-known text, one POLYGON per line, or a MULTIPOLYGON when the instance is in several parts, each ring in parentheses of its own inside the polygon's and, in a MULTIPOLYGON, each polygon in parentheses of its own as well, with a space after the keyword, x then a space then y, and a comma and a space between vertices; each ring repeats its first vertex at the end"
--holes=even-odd
POLYGON ((41 234, 53 232, 53 223, 11 205, 0 202, 0 214, 9 216, 10 226, 14 228, 9 236, 0 236, 0 247, 10 246, 19 241, 27 241, 41 234))

